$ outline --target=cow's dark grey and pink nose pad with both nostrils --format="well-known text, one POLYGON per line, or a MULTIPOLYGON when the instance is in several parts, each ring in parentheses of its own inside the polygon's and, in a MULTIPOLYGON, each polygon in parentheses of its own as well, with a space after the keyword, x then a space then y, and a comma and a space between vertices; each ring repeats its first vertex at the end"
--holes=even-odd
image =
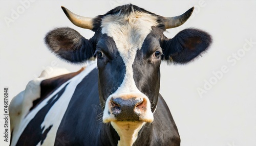
POLYGON ((116 120, 140 120, 140 115, 146 111, 146 100, 143 98, 112 98, 110 102, 116 120))

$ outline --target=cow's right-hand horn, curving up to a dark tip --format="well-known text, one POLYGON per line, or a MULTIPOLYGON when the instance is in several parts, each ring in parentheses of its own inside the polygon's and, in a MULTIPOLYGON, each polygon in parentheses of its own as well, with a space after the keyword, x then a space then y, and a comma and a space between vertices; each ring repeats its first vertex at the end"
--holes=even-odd
POLYGON ((193 10, 194 10, 194 7, 190 8, 182 15, 175 16, 175 17, 165 17, 166 19, 166 21, 164 22, 165 29, 176 28, 183 25, 183 23, 185 23, 185 21, 191 16, 193 10))

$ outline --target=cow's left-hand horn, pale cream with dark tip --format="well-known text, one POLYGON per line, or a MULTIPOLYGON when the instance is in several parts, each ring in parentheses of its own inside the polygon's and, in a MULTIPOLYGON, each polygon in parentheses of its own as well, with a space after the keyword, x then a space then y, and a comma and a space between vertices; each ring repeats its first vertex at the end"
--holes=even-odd
POLYGON ((90 29, 90 30, 93 29, 92 18, 79 16, 63 6, 61 6, 61 8, 66 14, 66 16, 69 18, 69 20, 77 27, 90 29))

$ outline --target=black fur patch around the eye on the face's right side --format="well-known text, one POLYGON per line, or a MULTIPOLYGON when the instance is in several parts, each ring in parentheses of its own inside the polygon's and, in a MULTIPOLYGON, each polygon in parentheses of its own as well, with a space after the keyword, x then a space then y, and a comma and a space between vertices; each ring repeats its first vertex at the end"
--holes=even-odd
POLYGON ((151 110, 154 112, 158 103, 161 64, 161 55, 154 57, 154 54, 156 51, 161 52, 159 40, 163 37, 163 30, 157 27, 152 27, 152 30, 137 51, 133 63, 133 78, 137 88, 150 99, 151 110))

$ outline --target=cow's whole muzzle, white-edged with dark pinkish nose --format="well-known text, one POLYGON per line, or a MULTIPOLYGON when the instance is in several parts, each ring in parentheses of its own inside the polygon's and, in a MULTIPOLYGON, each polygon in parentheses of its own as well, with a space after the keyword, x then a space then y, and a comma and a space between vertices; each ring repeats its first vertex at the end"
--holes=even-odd
POLYGON ((144 94, 122 94, 110 96, 106 101, 103 122, 154 120, 150 100, 144 94), (108 111, 108 112, 106 112, 108 111))

